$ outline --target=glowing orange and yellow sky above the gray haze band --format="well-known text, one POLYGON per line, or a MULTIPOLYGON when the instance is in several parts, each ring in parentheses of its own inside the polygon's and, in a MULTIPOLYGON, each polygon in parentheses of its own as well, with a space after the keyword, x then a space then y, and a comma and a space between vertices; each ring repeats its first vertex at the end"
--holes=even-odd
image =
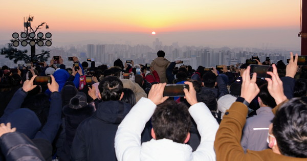
POLYGON ((299 0, 53 0, 3 1, 1 31, 22 31, 23 17, 50 31, 171 32, 300 25, 299 0), (5 6, 5 7, 4 7, 5 6))

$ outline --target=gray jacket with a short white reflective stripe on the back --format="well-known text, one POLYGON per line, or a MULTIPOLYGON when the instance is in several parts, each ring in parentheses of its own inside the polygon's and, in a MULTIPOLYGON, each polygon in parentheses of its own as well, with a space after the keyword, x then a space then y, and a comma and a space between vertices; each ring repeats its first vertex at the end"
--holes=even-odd
POLYGON ((241 145, 245 152, 247 149, 261 151, 268 148, 269 125, 274 118, 272 108, 260 107, 256 113, 256 116, 246 119, 243 128, 241 145))

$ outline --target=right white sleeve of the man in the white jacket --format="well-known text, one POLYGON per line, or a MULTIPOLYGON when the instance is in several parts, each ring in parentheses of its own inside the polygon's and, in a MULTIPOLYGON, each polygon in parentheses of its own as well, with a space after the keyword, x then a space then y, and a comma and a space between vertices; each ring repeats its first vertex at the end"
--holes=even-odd
POLYGON ((197 129, 201 135, 201 143, 193 152, 193 160, 216 160, 213 147, 215 134, 219 126, 216 119, 203 102, 191 106, 189 112, 197 124, 197 129))

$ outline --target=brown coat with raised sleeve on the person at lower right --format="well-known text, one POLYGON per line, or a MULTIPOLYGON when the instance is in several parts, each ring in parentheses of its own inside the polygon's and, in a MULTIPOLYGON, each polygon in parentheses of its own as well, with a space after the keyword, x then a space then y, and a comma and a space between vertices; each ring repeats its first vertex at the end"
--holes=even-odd
MULTIPOLYGON (((278 106, 273 109, 273 113, 275 113, 276 108, 278 106)), ((294 158, 276 154, 272 149, 262 151, 247 150, 244 153, 240 140, 242 129, 246 122, 247 111, 246 105, 235 102, 225 112, 220 128, 216 132, 214 142, 216 160, 307 160, 306 158, 294 158), (227 112, 228 114, 226 114, 227 112)))

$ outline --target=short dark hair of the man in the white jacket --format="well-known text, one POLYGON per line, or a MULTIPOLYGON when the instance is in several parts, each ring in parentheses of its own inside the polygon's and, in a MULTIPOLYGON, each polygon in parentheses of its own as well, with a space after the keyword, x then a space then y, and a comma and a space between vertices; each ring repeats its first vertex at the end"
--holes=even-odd
POLYGON ((165 101, 157 106, 151 123, 157 140, 165 138, 184 143, 191 126, 188 107, 173 100, 165 101))

